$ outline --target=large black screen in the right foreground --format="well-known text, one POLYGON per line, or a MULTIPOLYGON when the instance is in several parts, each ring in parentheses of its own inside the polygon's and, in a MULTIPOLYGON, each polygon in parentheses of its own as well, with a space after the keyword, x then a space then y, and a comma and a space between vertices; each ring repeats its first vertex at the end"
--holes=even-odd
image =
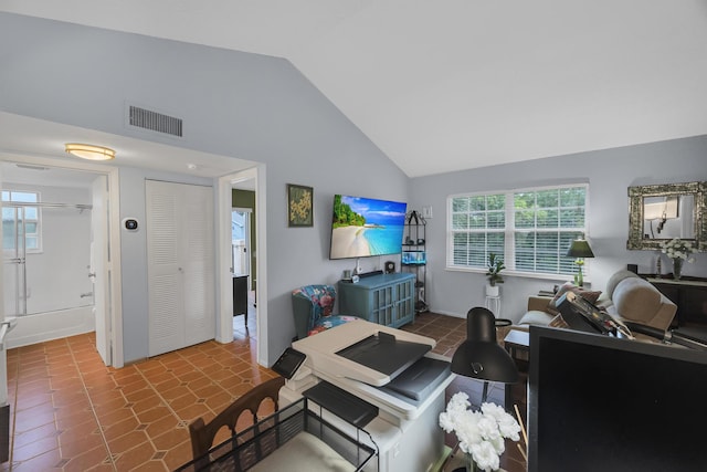
POLYGON ((528 472, 704 471, 707 354, 530 327, 528 472))

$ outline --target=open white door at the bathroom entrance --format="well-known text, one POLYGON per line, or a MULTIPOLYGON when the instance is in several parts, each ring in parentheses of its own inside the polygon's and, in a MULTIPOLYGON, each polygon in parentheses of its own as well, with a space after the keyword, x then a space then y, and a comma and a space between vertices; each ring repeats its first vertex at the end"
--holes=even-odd
POLYGON ((110 303, 108 290, 108 179, 98 176, 93 181, 93 210, 91 211, 91 265, 88 277, 93 282, 93 302, 96 317, 96 349, 106 366, 113 365, 110 346, 110 303))

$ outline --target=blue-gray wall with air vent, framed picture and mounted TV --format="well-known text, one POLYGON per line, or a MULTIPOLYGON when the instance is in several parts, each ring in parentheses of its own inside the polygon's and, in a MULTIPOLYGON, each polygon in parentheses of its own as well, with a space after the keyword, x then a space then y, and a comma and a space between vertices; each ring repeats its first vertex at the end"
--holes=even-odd
MULTIPOLYGON (((295 334, 291 291, 354 264, 328 260, 334 193, 408 200, 404 174, 285 60, 8 13, 0 57, 3 112, 266 165, 270 363, 295 334), (183 118, 184 138, 127 129, 126 102, 183 118), (288 182, 314 187, 314 228, 287 228, 288 182)), ((144 177, 122 171, 120 218, 144 213, 144 177)), ((146 248, 123 249, 130 361, 147 355, 146 248)))

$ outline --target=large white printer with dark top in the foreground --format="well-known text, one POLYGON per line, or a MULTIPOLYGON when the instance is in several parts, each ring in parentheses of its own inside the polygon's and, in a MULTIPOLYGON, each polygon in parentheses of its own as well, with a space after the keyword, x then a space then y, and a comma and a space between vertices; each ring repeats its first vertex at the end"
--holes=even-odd
POLYGON ((379 450, 380 471, 430 470, 444 454, 439 416, 454 379, 450 360, 433 354, 434 346, 432 338, 363 319, 346 323, 293 343, 306 358, 279 400, 296 401, 323 381, 338 387, 377 408, 363 429, 379 450))

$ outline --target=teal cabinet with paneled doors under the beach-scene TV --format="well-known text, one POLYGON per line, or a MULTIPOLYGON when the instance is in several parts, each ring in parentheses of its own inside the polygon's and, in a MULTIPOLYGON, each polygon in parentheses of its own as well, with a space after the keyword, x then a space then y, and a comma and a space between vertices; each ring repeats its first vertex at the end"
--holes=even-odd
POLYGON ((357 283, 340 281, 338 292, 341 315, 354 315, 394 328, 414 321, 414 274, 371 275, 357 283))

